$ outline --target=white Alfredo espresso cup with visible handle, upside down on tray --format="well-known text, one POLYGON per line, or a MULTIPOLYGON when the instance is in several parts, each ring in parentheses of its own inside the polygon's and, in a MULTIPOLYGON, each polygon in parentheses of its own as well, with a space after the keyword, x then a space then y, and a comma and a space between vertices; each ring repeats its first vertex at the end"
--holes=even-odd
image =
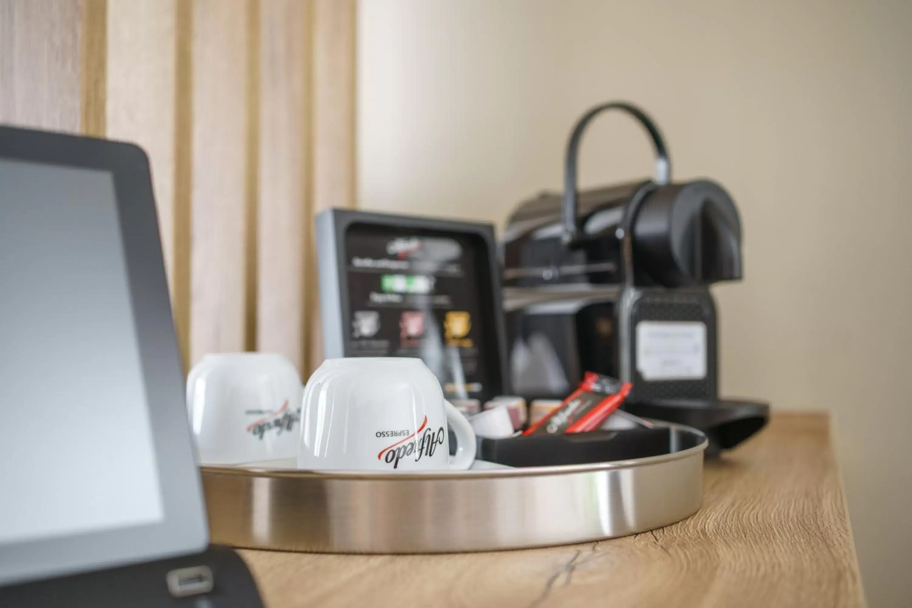
POLYGON ((407 473, 475 459, 472 427, 420 359, 326 359, 307 381, 302 425, 299 469, 407 473))

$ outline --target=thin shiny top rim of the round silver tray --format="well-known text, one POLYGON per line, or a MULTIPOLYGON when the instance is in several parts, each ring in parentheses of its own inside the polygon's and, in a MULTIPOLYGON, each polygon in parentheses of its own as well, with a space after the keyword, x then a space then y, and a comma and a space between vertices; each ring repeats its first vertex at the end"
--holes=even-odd
POLYGON ((677 452, 668 452, 656 456, 647 456, 639 459, 608 460, 606 462, 589 462, 578 465, 554 465, 550 467, 515 467, 506 469, 477 469, 460 471, 416 471, 408 473, 370 473, 366 471, 319 471, 311 469, 272 469, 238 466, 200 465, 202 475, 232 475, 251 478, 281 478, 281 479, 314 479, 314 480, 339 480, 339 481, 456 481, 472 479, 503 479, 514 477, 544 477, 551 475, 572 475, 576 473, 594 473, 604 470, 635 469, 649 465, 686 459, 698 452, 703 452, 710 445, 706 433, 697 428, 686 425, 663 422, 662 427, 676 428, 689 433, 700 440, 692 448, 682 449, 677 452))

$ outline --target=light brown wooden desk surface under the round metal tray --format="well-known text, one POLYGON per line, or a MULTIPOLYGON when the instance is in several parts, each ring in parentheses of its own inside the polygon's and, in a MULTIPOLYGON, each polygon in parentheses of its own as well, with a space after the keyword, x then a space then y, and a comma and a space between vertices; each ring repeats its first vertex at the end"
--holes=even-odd
POLYGON ((777 413, 708 461, 703 508, 657 531, 487 553, 241 553, 269 608, 864 605, 822 413, 777 413))

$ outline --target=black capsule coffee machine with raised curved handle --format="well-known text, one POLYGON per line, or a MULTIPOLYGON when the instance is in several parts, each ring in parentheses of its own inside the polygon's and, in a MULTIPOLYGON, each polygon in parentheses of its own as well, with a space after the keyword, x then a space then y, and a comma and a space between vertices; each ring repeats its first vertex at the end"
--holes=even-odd
POLYGON ((565 191, 523 201, 503 235, 503 298, 513 390, 563 398, 586 371, 634 383, 627 409, 695 424, 717 448, 762 428, 765 404, 719 400, 712 283, 740 280, 741 218, 712 180, 671 181, 652 119, 606 103, 573 129, 565 191), (579 144, 592 119, 618 109, 648 131, 656 175, 579 192, 579 144), (732 426, 734 425, 734 426, 732 426))

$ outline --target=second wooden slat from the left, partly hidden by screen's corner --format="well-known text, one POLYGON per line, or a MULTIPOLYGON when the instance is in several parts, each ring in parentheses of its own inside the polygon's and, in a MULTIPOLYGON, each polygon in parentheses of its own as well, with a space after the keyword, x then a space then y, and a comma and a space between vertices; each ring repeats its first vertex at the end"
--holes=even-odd
POLYGON ((108 0, 107 137, 149 155, 161 247, 174 293, 177 0, 108 0))

